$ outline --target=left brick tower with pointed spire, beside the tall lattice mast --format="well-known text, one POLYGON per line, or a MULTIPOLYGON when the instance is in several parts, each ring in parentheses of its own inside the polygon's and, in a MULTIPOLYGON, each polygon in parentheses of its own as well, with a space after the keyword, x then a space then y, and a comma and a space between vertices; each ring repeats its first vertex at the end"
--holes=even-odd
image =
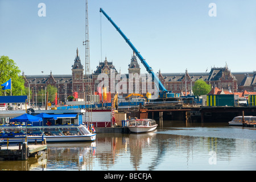
POLYGON ((72 93, 77 92, 78 98, 84 98, 84 68, 81 64, 78 48, 72 65, 72 93))

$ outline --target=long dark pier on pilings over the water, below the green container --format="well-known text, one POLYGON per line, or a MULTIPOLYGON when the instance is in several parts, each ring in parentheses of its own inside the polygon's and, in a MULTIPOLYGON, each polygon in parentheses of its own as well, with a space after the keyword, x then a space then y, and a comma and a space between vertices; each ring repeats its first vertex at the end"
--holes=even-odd
POLYGON ((167 120, 189 119, 192 122, 229 122, 234 117, 255 115, 256 106, 200 106, 138 109, 138 118, 166 118, 167 120), (225 114, 224 114, 225 113, 225 114))

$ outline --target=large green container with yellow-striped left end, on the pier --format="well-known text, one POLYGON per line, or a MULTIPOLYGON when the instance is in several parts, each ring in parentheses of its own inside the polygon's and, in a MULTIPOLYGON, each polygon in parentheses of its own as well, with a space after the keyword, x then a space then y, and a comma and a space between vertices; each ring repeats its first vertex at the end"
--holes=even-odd
POLYGON ((233 94, 207 95, 207 106, 234 106, 236 97, 233 94))

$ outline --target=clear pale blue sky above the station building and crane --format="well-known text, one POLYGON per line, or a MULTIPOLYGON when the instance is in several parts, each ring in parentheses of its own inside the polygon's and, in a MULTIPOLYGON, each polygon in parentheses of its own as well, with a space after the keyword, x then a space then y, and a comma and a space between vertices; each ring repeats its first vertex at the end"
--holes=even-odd
MULTIPOLYGON (((232 72, 256 71, 255 0, 88 0, 88 4, 93 71, 106 56, 118 72, 128 73, 133 54, 100 7, 154 72, 205 72, 225 64, 232 72), (217 16, 209 16, 210 3, 216 4, 217 16)), ((0 0, 0 26, 0 55, 13 59, 26 75, 71 74, 76 48, 85 63, 85 0, 0 0), (46 5, 45 17, 38 16, 39 3, 46 5)))

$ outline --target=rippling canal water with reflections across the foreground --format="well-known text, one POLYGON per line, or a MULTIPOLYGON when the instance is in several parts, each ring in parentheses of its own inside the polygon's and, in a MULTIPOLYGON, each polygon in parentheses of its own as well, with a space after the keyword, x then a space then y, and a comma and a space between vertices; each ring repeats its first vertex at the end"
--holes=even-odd
POLYGON ((48 143, 47 154, 0 161, 11 171, 256 170, 256 128, 158 122, 147 134, 97 134, 95 142, 48 143))

